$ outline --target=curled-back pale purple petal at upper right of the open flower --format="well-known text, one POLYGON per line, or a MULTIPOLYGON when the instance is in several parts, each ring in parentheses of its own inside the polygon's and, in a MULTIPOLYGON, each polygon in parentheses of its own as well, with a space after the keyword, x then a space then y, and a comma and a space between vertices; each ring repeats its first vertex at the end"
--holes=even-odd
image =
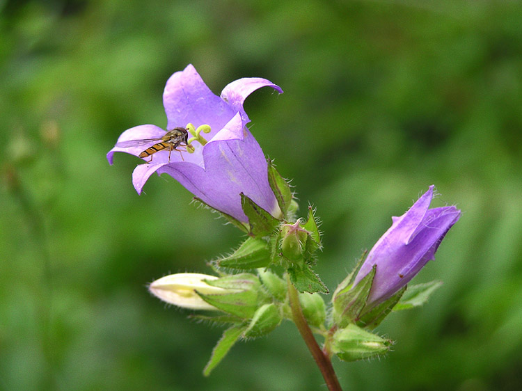
POLYGON ((232 81, 232 83, 229 83, 225 88, 223 88, 223 91, 221 91, 221 98, 228 102, 234 111, 241 113, 241 118, 244 123, 248 123, 250 120, 243 109, 243 104, 248 95, 261 87, 271 87, 274 88, 274 90, 277 90, 278 93, 283 93, 283 90, 281 90, 279 86, 276 86, 276 84, 267 79, 262 79, 260 77, 244 77, 243 79, 232 81))

